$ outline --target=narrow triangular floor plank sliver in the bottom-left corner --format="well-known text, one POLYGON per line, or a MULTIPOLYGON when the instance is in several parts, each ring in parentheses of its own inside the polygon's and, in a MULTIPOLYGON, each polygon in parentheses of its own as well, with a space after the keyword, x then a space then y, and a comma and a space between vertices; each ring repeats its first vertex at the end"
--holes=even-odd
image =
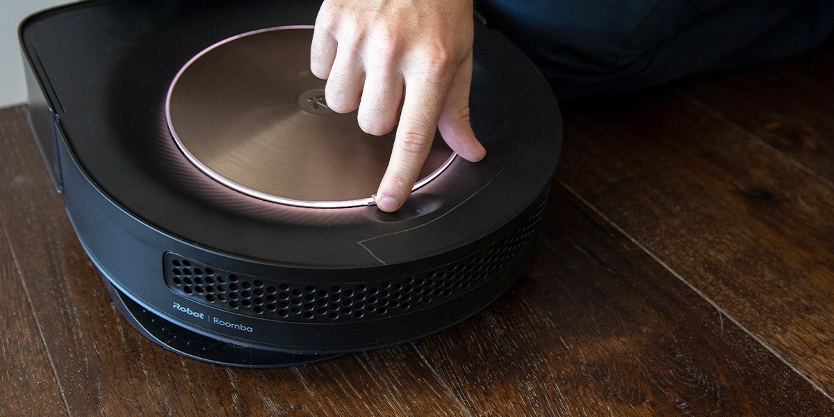
MULTIPOLYGON (((13 146, 13 141, 24 137, 25 124, 0 116, 0 143, 3 148, 13 146)), ((0 182, 0 196, 18 193, 31 185, 33 178, 18 174, 11 181, 0 182)), ((55 378, 53 367, 38 324, 33 306, 28 303, 27 289, 21 281, 15 256, 10 248, 12 238, 5 227, 3 209, 0 209, 0 415, 44 415, 43 407, 51 409, 50 415, 67 415, 62 390, 55 378)), ((28 222, 37 219, 28 219, 28 222)))

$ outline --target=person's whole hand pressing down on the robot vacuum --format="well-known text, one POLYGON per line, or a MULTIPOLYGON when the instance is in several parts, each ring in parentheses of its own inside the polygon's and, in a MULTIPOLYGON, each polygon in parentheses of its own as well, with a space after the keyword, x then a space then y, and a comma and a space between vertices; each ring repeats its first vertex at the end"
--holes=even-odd
POLYGON ((471 162, 486 151, 470 124, 472 0, 325 0, 310 69, 327 79, 328 107, 359 108, 359 127, 399 126, 376 204, 396 211, 417 181, 435 129, 471 162), (401 111, 400 111, 401 106, 401 111))

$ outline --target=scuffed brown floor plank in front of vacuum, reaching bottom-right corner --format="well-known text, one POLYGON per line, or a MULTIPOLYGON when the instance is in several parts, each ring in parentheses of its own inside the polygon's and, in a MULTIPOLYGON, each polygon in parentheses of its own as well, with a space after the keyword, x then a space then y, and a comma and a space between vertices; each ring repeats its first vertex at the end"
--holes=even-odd
POLYGON ((417 343, 480 415, 821 415, 831 401, 560 184, 521 283, 417 343), (465 360, 464 360, 465 359, 465 360))

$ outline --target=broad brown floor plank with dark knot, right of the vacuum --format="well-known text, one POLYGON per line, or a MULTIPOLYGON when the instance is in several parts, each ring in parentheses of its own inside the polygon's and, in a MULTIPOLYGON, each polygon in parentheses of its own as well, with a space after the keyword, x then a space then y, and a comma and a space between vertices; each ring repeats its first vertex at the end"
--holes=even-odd
POLYGON ((665 89, 574 103, 559 176, 830 396, 834 188, 727 106, 665 89))

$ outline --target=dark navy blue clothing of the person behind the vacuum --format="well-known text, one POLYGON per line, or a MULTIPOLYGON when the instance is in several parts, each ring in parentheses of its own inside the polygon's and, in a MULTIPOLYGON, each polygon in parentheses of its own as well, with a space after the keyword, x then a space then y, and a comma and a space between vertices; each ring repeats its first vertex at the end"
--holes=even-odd
POLYGON ((475 0, 557 98, 648 87, 804 52, 834 0, 475 0))

